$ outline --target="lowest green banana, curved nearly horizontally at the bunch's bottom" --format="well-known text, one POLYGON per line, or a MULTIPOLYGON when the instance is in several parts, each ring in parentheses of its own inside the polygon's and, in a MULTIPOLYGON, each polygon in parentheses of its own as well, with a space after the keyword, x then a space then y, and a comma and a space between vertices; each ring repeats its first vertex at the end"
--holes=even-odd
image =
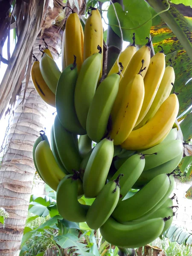
POLYGON ((135 248, 154 241, 160 236, 164 226, 163 218, 155 218, 139 224, 123 225, 110 217, 100 227, 100 232, 108 243, 118 247, 135 248))

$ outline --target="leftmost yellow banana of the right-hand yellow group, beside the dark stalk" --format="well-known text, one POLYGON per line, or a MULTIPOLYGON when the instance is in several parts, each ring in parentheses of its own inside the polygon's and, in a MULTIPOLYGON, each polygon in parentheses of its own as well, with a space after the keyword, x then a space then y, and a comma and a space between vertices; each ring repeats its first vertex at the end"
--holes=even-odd
POLYGON ((119 62, 122 63, 123 65, 123 70, 120 73, 120 80, 123 77, 123 74, 125 73, 125 70, 131 61, 131 58, 133 55, 137 52, 137 49, 135 47, 135 36, 133 37, 133 44, 129 45, 127 48, 125 48, 124 51, 122 51, 119 55, 119 59, 117 58, 115 63, 113 64, 113 67, 111 67, 111 70, 108 73, 108 76, 110 76, 113 73, 118 73, 119 72, 119 62))

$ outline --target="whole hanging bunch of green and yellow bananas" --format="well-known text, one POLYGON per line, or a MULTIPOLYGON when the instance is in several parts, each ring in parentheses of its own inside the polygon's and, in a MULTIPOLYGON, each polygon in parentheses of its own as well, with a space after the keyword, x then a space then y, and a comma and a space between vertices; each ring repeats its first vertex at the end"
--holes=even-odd
POLYGON ((62 73, 47 47, 31 70, 37 92, 57 110, 51 145, 43 131, 34 144, 37 172, 57 192, 63 218, 100 228, 119 247, 150 243, 174 215, 172 172, 183 155, 172 128, 175 73, 163 49, 150 58, 150 44, 136 50, 133 42, 99 83, 102 19, 90 8, 84 31, 75 12, 67 19, 62 73), (81 204, 82 195, 93 204, 81 204))

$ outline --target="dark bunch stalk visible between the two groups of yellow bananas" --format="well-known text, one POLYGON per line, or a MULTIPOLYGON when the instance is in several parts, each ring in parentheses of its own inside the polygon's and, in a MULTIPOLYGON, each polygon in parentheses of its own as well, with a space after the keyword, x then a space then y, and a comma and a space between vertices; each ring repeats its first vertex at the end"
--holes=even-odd
MULTIPOLYGON (((112 3, 119 3, 123 5, 122 0, 112 0, 112 3)), ((111 3, 110 3, 111 4, 111 3)), ((113 31, 111 26, 108 26, 107 35, 107 46, 108 46, 108 56, 107 56, 107 73, 111 70, 111 67, 118 58, 119 53, 122 50, 122 38, 113 31)))

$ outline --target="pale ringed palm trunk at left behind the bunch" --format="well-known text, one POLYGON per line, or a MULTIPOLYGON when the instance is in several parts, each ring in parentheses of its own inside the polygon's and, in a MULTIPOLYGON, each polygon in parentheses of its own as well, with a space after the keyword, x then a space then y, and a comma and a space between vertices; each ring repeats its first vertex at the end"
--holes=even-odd
MULTIPOLYGON (((38 45, 44 46, 44 38, 53 57, 58 58, 62 33, 60 30, 57 34, 54 26, 45 29, 43 36, 35 41, 35 56, 40 58, 38 45)), ((46 118, 47 104, 36 93, 32 81, 29 80, 28 87, 25 87, 24 79, 9 130, 6 156, 0 169, 0 207, 9 212, 5 227, 0 224, 0 256, 19 255, 35 174, 32 148, 39 131, 44 129, 46 118)))

